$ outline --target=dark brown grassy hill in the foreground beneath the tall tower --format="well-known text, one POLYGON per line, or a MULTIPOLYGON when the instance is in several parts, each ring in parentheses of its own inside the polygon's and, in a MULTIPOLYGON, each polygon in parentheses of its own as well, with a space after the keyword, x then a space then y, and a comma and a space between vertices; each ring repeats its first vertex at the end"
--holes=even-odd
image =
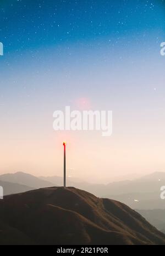
POLYGON ((0 244, 165 244, 128 206, 74 187, 5 196, 0 220, 0 244))

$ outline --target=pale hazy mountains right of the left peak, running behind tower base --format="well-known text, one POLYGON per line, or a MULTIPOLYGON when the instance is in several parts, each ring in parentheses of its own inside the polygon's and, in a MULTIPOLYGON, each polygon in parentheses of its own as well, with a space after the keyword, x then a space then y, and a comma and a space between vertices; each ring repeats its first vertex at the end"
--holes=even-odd
MULTIPOLYGON (((62 185, 62 177, 40 177, 54 184, 62 185)), ((0 177, 1 179, 1 177, 0 177)), ((160 188, 165 185, 165 173, 155 172, 134 180, 111 182, 108 185, 75 182, 68 178, 68 185, 91 192, 96 196, 118 200, 138 209, 165 208, 160 198, 160 188)))

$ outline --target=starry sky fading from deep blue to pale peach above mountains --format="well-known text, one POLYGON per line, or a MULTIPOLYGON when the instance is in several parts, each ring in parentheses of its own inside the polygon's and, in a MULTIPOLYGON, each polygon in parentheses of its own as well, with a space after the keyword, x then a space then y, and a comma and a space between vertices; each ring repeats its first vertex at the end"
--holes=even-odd
POLYGON ((69 176, 165 171, 164 17, 163 0, 2 0, 0 173, 62 175, 63 140, 69 176), (65 106, 112 110, 112 136, 55 132, 65 106))

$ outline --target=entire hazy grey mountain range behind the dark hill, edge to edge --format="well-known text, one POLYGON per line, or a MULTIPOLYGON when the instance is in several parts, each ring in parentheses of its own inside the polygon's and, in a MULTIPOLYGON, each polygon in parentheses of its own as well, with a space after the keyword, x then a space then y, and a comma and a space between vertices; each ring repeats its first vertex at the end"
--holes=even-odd
MULTIPOLYGON (((63 185, 63 177, 35 177, 33 175, 25 174, 22 172, 18 172, 15 174, 0 175, 0 181, 12 183, 15 182, 18 185, 30 187, 30 190, 37 189, 40 187, 52 187, 63 185)), ((126 205, 130 206, 131 208, 144 210, 154 208, 165 208, 165 200, 161 200, 160 198, 160 187, 164 185, 165 173, 163 172, 152 173, 150 175, 145 175, 135 180, 112 182, 107 185, 90 184, 84 181, 81 182, 80 180, 73 177, 67 177, 67 186, 78 187, 79 189, 91 192, 96 196, 108 197, 123 202, 126 205)), ((24 187, 24 191, 29 190, 28 187, 24 187)), ((8 189, 5 189, 5 185, 4 191, 8 191, 8 189)), ((15 193, 21 192, 21 190, 19 186, 17 190, 17 186, 15 185, 13 190, 11 186, 9 192, 15 193)))

